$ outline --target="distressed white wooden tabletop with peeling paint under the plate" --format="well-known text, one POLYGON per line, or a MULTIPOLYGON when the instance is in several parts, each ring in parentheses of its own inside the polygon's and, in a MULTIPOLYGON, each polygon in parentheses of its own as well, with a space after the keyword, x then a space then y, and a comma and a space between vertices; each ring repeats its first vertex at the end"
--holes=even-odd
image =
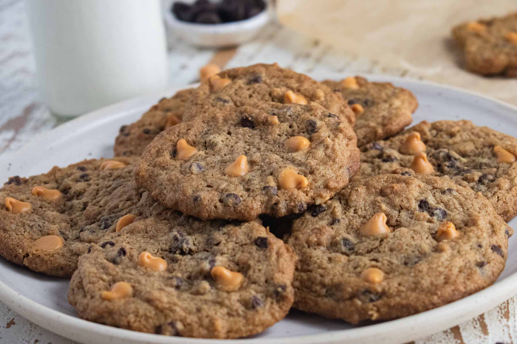
MULTIPOLYGON (((235 50, 201 50, 170 35, 171 86, 197 79, 208 62, 231 68, 257 62, 278 62, 297 72, 383 73, 423 78, 404 69, 390 68, 378 60, 338 54, 332 46, 304 38, 271 23, 252 42, 235 50)), ((58 122, 39 99, 35 66, 28 37, 23 0, 0 0, 0 157, 15 152, 34 135, 58 122)), ((1 161, 1 160, 0 160, 1 161)), ((450 330, 422 338, 417 344, 495 344, 517 342, 517 304, 512 298, 485 314, 450 330)), ((0 343, 71 344, 12 312, 0 303, 0 343)))

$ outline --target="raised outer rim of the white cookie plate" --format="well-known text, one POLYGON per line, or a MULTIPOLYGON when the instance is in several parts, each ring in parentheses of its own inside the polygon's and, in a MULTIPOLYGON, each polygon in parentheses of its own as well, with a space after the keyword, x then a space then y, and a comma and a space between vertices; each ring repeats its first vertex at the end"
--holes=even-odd
MULTIPOLYGON (((493 102, 503 108, 507 108, 517 114, 517 106, 514 106, 512 104, 506 103, 504 101, 498 100, 495 97, 488 96, 481 94, 479 92, 475 92, 472 90, 466 90, 460 87, 455 87, 447 84, 441 84, 437 83, 435 81, 429 81, 429 80, 419 80, 415 78, 409 78, 409 77, 399 77, 399 76, 391 76, 389 74, 368 74, 368 73, 358 73, 361 76, 366 77, 369 80, 374 81, 389 81, 393 84, 398 83, 409 83, 409 84, 419 84, 421 86, 428 86, 431 88, 440 88, 442 90, 450 90, 458 93, 463 93, 463 95, 470 95, 474 97, 479 97, 481 99, 493 102)), ((334 77, 336 76, 340 77, 340 75, 357 75, 356 73, 352 72, 343 72, 343 73, 332 73, 332 72, 322 72, 318 73, 318 75, 324 75, 325 77, 334 77), (333 75, 333 76, 332 76, 333 75)), ((321 77, 318 77, 318 79, 322 79, 321 77)), ((84 114, 83 116, 77 117, 75 119, 72 119, 68 122, 65 122, 63 124, 60 124, 56 126, 55 128, 52 128, 51 130, 48 130, 47 132, 40 133, 33 137, 31 140, 29 140, 26 144, 24 144, 19 150, 12 153, 3 154, 4 157, 9 158, 11 156, 14 156, 14 154, 20 154, 23 153, 26 150, 32 149, 32 147, 37 144, 39 141, 44 140, 48 136, 56 135, 57 133, 61 132, 62 130, 70 130, 75 127, 80 126, 82 123, 89 123, 91 121, 101 121, 105 118, 105 121, 109 121, 108 119, 113 119, 114 114, 116 113, 118 116, 123 117, 124 112, 130 111, 130 109, 134 109, 136 106, 143 106, 142 104, 152 104, 156 99, 159 99, 161 96, 173 94, 174 92, 177 92, 178 90, 183 90, 186 88, 196 87, 196 85, 199 84, 190 84, 182 87, 171 87, 164 89, 160 92, 154 92, 152 94, 147 94, 143 96, 133 97, 128 100, 124 100, 118 103, 115 103, 113 105, 109 105, 107 107, 100 108, 95 111, 88 112, 84 114), (112 117, 110 118, 111 115, 112 117)), ((396 85, 397 86, 397 85, 396 85)), ((506 265, 505 265, 506 266, 506 265)), ((412 316, 404 317, 401 319, 396 320, 390 320, 385 321, 381 323, 371 324, 367 326, 361 326, 357 327, 352 330, 337 330, 337 331, 329 331, 327 333, 320 333, 320 334, 312 334, 312 335, 303 335, 303 336, 294 336, 294 337, 279 337, 274 338, 276 343, 291 343, 291 342, 298 342, 299 344, 310 344, 310 343, 318 343, 318 342, 337 342, 342 340, 354 340, 354 339, 361 339, 365 336, 368 336, 369 334, 371 336, 373 335, 389 335, 392 331, 391 329, 399 329, 399 327, 402 325, 404 326, 404 323, 411 324, 414 328, 410 329, 410 333, 412 335, 409 335, 407 337, 407 341, 417 339, 418 337, 414 337, 415 335, 413 333, 423 333, 422 331, 422 325, 427 326, 428 328, 432 327, 433 330, 436 330, 435 327, 440 327, 442 330, 445 330, 446 328, 450 328, 452 326, 458 325, 464 320, 470 319, 471 317, 468 316, 467 319, 465 318, 465 315, 459 316, 454 319, 453 322, 450 322, 447 324, 448 327, 444 327, 442 325, 434 326, 433 324, 426 323, 424 320, 431 318, 431 319, 439 319, 440 317, 443 317, 444 314, 458 314, 459 312, 457 309, 462 309, 463 313, 467 313, 469 311, 475 309, 476 312, 479 312, 479 314, 482 314, 486 312, 489 309, 486 309, 486 307, 483 307, 484 304, 499 304, 510 297, 513 296, 515 292, 517 292, 517 287, 513 287, 513 285, 517 285, 517 271, 511 273, 508 275, 504 280, 494 283, 476 293, 473 293, 465 298, 462 298, 460 300, 448 303, 446 305, 427 310, 422 313, 418 313, 412 316), (482 302, 481 305, 477 304, 476 300, 485 300, 482 302), (465 310, 467 309, 467 310, 465 310)), ((150 333, 142 333, 132 330, 126 330, 126 329, 119 329, 117 327, 108 326, 104 324, 99 324, 96 322, 88 321, 81 319, 77 316, 68 315, 62 312, 59 312, 58 310, 52 309, 50 307, 44 306, 36 301, 33 301, 29 299, 28 297, 22 296, 20 293, 18 293, 16 290, 10 288, 0 279, 0 301, 7 304, 14 312, 22 315, 24 318, 28 319, 29 321, 33 321, 34 323, 44 327, 45 329, 48 329, 54 333, 57 333, 59 335, 65 336, 69 338, 68 336, 64 335, 65 332, 64 329, 67 330, 80 330, 80 331, 88 331, 95 335, 100 336, 110 336, 113 339, 127 339, 131 338, 131 340, 139 340, 141 342, 146 343, 238 343, 238 344, 249 344, 249 343, 257 343, 257 344, 265 344, 266 342, 269 343, 272 339, 271 338, 245 338, 245 339, 204 339, 204 338, 186 338, 186 337, 170 337, 170 336, 162 336, 157 334, 150 334, 150 333), (44 319, 53 319, 51 322, 46 323, 44 319), (63 328, 63 330, 60 331, 60 327, 63 328)), ((447 318, 447 317, 446 317, 447 318)), ((409 325, 406 325, 406 327, 411 327, 409 325)), ((439 330, 436 330, 439 331, 439 330)), ((436 332, 436 331, 433 331, 436 332)), ((427 333, 426 333, 427 334, 427 333)), ((425 335, 425 334, 424 334, 425 335)), ((74 339, 77 340, 77 339, 74 339)))

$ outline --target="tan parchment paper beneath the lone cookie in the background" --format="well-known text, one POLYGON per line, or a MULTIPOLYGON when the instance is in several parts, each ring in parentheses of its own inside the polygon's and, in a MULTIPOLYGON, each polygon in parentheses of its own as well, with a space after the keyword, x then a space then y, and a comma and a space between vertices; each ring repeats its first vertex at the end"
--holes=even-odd
POLYGON ((515 0, 279 0, 284 25, 345 53, 517 105, 517 78, 462 69, 454 25, 517 11, 515 0))

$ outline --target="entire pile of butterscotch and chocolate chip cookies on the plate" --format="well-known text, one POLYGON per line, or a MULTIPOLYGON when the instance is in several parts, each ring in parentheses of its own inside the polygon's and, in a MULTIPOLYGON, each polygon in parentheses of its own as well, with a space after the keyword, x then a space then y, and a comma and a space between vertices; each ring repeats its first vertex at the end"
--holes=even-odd
POLYGON ((257 64, 162 99, 115 158, 0 189, 0 254, 71 276, 81 318, 238 338, 291 307, 353 324, 458 300, 503 271, 517 139, 412 122, 408 90, 257 64))

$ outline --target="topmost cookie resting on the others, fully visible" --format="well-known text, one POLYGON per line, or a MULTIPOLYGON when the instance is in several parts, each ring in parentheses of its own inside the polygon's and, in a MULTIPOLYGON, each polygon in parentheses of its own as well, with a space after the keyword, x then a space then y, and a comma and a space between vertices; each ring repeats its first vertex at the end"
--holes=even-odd
POLYGON ((185 214, 253 220, 325 202, 358 159, 352 127, 321 105, 260 103, 165 130, 147 146, 135 179, 185 214))

